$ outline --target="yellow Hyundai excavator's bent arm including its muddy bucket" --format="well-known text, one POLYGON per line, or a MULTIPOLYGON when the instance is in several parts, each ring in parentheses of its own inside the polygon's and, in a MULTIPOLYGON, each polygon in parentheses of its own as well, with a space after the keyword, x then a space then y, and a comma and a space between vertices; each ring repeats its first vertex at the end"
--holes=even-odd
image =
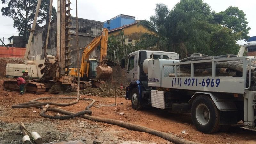
POLYGON ((100 65, 96 67, 97 79, 106 80, 112 74, 112 68, 107 66, 107 46, 108 46, 108 29, 104 28, 102 33, 95 37, 90 44, 88 44, 83 51, 80 74, 82 77, 89 77, 89 56, 97 48, 100 48, 100 65))

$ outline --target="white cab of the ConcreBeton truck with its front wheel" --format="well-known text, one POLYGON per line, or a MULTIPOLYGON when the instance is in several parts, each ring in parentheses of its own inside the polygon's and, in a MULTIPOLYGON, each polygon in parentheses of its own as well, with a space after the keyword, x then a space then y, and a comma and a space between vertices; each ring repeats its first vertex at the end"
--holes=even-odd
MULTIPOLYGON (((168 61, 179 61, 179 54, 176 52, 164 52, 164 51, 135 51, 129 54, 127 62, 127 76, 126 81, 129 83, 126 87, 126 99, 132 100, 132 107, 139 109, 140 102, 144 101, 148 103, 148 93, 150 89, 148 87, 148 74, 143 70, 144 61, 151 59, 165 59, 168 61)), ((122 67, 124 68, 124 60, 122 60, 122 67)), ((170 63, 170 62, 169 62, 170 63)), ((147 65, 147 64, 144 64, 147 65)), ((149 102, 150 103, 150 102, 149 102)))

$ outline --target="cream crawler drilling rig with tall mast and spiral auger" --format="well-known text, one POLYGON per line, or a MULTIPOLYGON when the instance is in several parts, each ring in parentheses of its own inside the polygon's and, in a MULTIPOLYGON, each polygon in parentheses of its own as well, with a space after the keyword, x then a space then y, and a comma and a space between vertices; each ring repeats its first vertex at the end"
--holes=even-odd
MULTIPOLYGON (((71 76, 70 65, 71 65, 71 14, 70 0, 58 0, 57 1, 57 47, 56 47, 56 57, 47 55, 47 44, 48 37, 45 42, 44 48, 44 58, 35 57, 30 55, 31 41, 35 31, 36 20, 38 12, 41 5, 41 0, 38 0, 36 13, 33 21, 32 28, 30 31, 30 36, 28 39, 28 44, 26 45, 26 53, 24 56, 24 64, 7 64, 6 66, 6 76, 8 78, 13 78, 14 76, 21 76, 22 70, 28 70, 29 75, 33 78, 33 81, 29 81, 27 86, 27 92, 32 92, 36 94, 43 94, 46 89, 50 89, 52 85, 60 85, 66 90, 76 90, 77 84, 75 83, 74 76, 71 76), (35 58, 34 60, 32 59, 35 58)), ((52 0, 49 4, 49 17, 51 19, 51 8, 52 0)), ((50 20, 49 20, 50 21, 50 20)), ((50 22, 46 21, 46 25, 50 22)), ((47 36, 49 36, 49 28, 47 36)), ((19 88, 15 86, 15 80, 4 81, 3 88, 9 91, 18 91, 19 88)))

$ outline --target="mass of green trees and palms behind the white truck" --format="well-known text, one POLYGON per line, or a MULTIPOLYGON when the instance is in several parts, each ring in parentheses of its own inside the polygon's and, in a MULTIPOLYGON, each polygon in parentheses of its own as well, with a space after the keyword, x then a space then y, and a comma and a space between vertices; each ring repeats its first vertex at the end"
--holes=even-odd
POLYGON ((155 34, 143 34, 138 46, 156 45, 162 51, 178 52, 180 58, 195 52, 237 54, 236 41, 246 39, 250 29, 244 16, 236 7, 216 13, 203 0, 181 0, 172 10, 156 4, 155 16, 139 22, 155 34))

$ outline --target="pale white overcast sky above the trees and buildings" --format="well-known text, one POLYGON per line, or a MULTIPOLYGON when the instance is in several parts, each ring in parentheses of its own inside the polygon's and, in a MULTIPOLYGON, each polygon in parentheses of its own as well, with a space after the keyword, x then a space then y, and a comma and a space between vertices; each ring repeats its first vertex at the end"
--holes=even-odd
MULTIPOLYGON (((53 6, 57 9, 57 0, 53 0, 53 6)), ((150 16, 154 15, 156 3, 163 3, 172 9, 175 4, 180 0, 129 0, 129 1, 116 1, 116 0, 78 0, 78 17, 106 21, 119 14, 135 16, 136 20, 149 20, 150 16)), ((249 36, 256 36, 256 0, 204 0, 211 7, 211 10, 216 12, 224 11, 229 6, 238 7, 246 14, 248 26, 251 27, 249 36)), ((75 16, 75 0, 71 0, 71 14, 75 16)), ((0 3, 0 7, 5 7, 6 4, 0 3)), ((1 12, 0 12, 1 13, 1 12)), ((13 20, 9 17, 0 15, 0 38, 4 43, 8 44, 7 38, 13 35, 18 35, 16 28, 12 27, 13 20)), ((239 41, 238 44, 245 44, 244 41, 239 41)))

